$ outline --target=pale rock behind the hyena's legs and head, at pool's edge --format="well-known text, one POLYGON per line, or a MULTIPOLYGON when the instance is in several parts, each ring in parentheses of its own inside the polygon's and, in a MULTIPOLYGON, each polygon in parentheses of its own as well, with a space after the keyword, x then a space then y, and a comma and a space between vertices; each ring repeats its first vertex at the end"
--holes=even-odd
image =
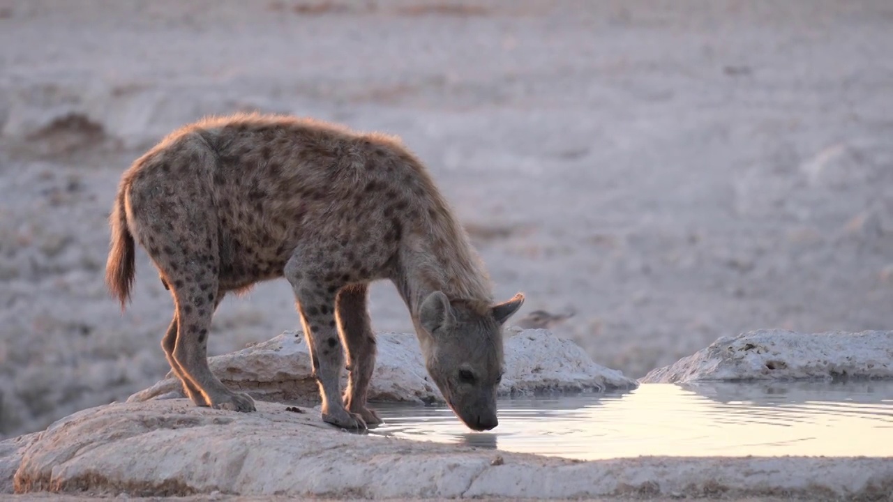
MULTIPOLYGON (((499 388, 503 396, 638 386, 622 372, 593 363, 582 348, 547 330, 506 330, 505 336, 506 372, 499 388)), ((443 402, 425 370, 415 335, 380 333, 378 347, 371 401, 443 402)), ((230 389, 261 400, 309 404, 319 399, 304 335, 299 331, 286 331, 263 343, 211 357, 209 364, 230 389)), ((128 402, 171 397, 183 397, 183 392, 179 381, 168 373, 165 380, 130 396, 128 402)))

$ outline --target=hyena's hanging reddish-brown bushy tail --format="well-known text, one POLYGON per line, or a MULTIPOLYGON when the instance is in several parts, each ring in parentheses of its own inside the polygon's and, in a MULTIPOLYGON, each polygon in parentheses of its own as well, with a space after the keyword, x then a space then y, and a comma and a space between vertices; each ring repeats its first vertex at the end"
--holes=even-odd
POLYGON ((105 285, 114 297, 121 301, 121 310, 124 309, 130 297, 130 287, 133 286, 133 276, 136 272, 134 257, 133 235, 127 227, 127 210, 124 207, 124 194, 126 187, 118 190, 118 198, 109 217, 112 227, 112 242, 109 247, 109 259, 105 264, 105 285))

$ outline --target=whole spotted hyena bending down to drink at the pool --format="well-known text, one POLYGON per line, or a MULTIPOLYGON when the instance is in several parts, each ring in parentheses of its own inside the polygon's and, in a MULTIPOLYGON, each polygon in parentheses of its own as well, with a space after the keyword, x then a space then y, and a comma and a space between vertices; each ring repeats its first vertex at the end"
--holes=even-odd
POLYGON ((369 283, 389 279, 449 406, 472 429, 497 426, 502 325, 523 295, 494 304, 463 228, 396 138, 283 116, 200 121, 123 174, 111 226, 108 286, 123 307, 138 242, 173 295, 162 347, 197 406, 255 410, 209 370, 208 330, 227 292, 285 276, 322 419, 351 429, 380 423, 366 406, 376 352, 366 304, 369 283))

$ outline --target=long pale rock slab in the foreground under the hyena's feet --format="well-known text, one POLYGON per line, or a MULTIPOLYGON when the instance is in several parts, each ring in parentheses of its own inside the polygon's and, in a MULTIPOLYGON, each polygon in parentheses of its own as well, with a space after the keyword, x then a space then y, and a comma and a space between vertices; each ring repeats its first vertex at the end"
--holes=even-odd
POLYGON ((280 498, 725 497, 880 499, 887 458, 560 458, 339 431, 259 403, 239 414, 185 399, 100 406, 39 433, 17 493, 280 498))

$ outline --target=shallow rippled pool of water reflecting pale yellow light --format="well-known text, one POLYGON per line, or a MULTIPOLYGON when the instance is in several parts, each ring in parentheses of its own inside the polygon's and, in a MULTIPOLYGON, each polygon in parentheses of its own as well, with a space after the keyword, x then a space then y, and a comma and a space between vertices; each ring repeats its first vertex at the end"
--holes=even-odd
POLYGON ((579 459, 891 456, 893 382, 645 384, 625 394, 499 402, 472 432, 445 406, 377 405, 372 434, 579 459))

